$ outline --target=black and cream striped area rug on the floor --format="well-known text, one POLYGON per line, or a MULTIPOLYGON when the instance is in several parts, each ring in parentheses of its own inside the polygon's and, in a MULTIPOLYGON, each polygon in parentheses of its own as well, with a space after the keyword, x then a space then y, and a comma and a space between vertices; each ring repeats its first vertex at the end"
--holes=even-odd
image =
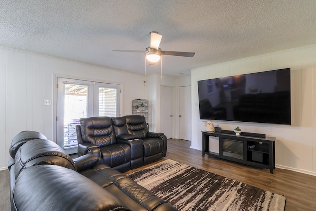
POLYGON ((284 211, 286 198, 173 160, 127 175, 181 211, 284 211))

